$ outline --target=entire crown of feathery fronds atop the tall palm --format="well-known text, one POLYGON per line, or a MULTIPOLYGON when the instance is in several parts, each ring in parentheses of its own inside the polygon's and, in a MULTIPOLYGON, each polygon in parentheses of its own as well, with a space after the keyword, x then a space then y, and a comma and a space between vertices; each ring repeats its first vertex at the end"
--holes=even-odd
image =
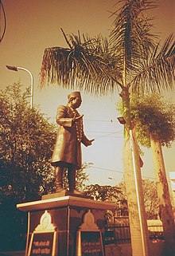
POLYGON ((146 10, 157 5, 152 0, 122 0, 110 40, 102 36, 67 35, 68 48, 45 49, 41 65, 41 87, 57 84, 80 88, 91 94, 114 93, 131 87, 134 93, 171 89, 174 81, 173 36, 159 50, 151 33, 152 19, 146 10))

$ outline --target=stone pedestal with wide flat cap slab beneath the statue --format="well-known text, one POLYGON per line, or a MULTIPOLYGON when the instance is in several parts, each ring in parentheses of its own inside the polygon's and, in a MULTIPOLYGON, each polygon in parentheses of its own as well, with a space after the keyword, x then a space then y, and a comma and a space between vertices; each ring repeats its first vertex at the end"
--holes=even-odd
MULTIPOLYGON (((82 253, 80 248, 77 249, 77 234, 80 236, 78 230, 80 230, 80 226, 85 226, 83 230, 89 232, 86 232, 86 236, 87 234, 96 235, 98 232, 94 230, 94 226, 97 226, 103 238, 104 215, 107 210, 115 208, 114 203, 97 202, 68 195, 21 203, 17 205, 17 208, 21 211, 28 211, 25 256, 104 255, 100 252, 98 254, 98 250, 94 250, 96 253, 91 253, 91 250, 87 254, 82 253), (86 220, 84 220, 84 216, 86 216, 86 220)), ((93 238, 91 238, 92 240, 93 238)))

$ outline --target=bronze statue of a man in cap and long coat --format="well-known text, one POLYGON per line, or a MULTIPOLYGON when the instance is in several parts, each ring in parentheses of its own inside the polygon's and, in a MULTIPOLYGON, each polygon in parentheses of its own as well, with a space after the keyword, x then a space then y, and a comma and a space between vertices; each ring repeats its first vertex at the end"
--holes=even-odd
POLYGON ((73 194, 82 194, 76 190, 76 170, 82 166, 81 143, 86 147, 93 140, 84 135, 83 115, 76 110, 82 102, 80 92, 68 95, 68 104, 60 105, 56 114, 56 123, 59 124, 56 144, 51 163, 56 167, 56 192, 64 192, 63 171, 68 168, 68 186, 73 194))

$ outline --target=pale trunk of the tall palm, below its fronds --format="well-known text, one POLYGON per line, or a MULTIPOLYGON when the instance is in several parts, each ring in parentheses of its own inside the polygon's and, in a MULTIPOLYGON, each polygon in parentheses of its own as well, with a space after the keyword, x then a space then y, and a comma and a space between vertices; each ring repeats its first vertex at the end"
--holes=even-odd
POLYGON ((125 140, 123 145, 123 167, 126 183, 126 195, 129 209, 130 234, 133 256, 150 255, 150 239, 146 223, 146 211, 142 191, 142 177, 138 144, 134 140, 130 123, 130 99, 126 90, 122 96, 124 117, 126 120, 125 140))

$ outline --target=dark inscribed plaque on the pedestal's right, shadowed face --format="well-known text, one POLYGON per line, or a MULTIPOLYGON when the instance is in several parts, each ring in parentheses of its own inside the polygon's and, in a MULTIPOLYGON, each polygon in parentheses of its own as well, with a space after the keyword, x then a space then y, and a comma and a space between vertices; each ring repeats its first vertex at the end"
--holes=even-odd
POLYGON ((103 241, 99 230, 80 230, 81 256, 103 256, 103 241))

